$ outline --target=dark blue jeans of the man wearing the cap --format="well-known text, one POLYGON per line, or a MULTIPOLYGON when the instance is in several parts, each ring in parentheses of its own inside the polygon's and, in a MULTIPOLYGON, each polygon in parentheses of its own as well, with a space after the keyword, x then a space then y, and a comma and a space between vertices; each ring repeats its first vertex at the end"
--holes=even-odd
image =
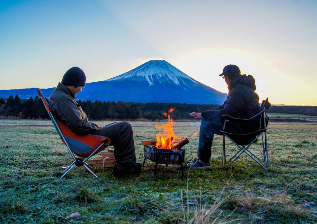
MULTIPOLYGON (((219 135, 219 131, 223 130, 223 121, 220 119, 202 120, 199 130, 198 158, 204 163, 209 163, 211 156, 211 145, 214 135, 219 135)), ((226 124, 226 131, 237 132, 239 127, 234 124, 226 124)))

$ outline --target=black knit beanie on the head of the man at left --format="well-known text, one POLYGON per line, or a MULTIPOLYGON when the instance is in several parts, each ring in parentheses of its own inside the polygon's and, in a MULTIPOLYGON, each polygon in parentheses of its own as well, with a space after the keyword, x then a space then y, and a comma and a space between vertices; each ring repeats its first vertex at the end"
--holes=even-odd
POLYGON ((64 74, 61 83, 66 86, 85 86, 86 75, 79 67, 72 67, 64 74))

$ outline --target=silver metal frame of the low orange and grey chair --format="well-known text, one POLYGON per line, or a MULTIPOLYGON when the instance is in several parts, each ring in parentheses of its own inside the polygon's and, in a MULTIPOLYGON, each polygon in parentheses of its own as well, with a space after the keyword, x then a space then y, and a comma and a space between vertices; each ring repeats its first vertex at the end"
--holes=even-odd
MULTIPOLYGON (((95 154, 103 145, 110 145, 111 142, 109 141, 109 139, 107 138, 107 140, 108 140, 108 143, 107 143, 107 144, 105 144, 105 142, 102 142, 100 145, 97 145, 97 146, 96 146, 97 148, 96 148, 88 157, 86 157, 85 159, 84 159, 84 158, 80 158, 80 157, 76 157, 76 155, 74 154, 74 152, 73 152, 73 151, 70 149, 70 147, 68 146, 68 143, 67 143, 67 141, 66 141, 66 139, 65 139, 65 137, 64 137, 64 135, 63 135, 63 133, 61 132, 61 129, 60 129, 58 123, 56 122, 56 120, 55 120, 55 118, 54 118, 52 112, 51 112, 50 109, 49 109, 49 104, 48 104, 47 100, 46 100, 46 99, 43 97, 43 95, 42 95, 41 89, 38 89, 37 91, 38 91, 38 93, 39 93, 39 95, 40 95, 40 97, 41 97, 41 99, 42 99, 42 102, 43 102, 43 104, 44 104, 44 106, 45 106, 45 108, 46 108, 46 110, 47 110, 47 112, 48 112, 48 114, 49 114, 49 117, 50 117, 51 120, 52 120, 52 123, 53 123, 53 125, 54 125, 54 127, 55 127, 55 129, 56 129, 56 131, 57 131, 57 133, 58 133, 58 135, 61 137, 62 141, 65 143, 66 147, 68 148, 68 151, 69 151, 70 155, 71 155, 72 158, 74 159, 74 162, 71 163, 69 166, 62 167, 62 169, 65 169, 65 170, 62 172, 63 175, 61 176, 61 178, 63 178, 66 174, 68 174, 68 172, 69 172, 70 170, 72 170, 75 166, 83 166, 83 167, 85 167, 92 175, 94 175, 94 177, 97 177, 97 178, 98 178, 98 176, 91 170, 91 167, 90 167, 90 166, 88 165, 88 163, 86 163, 86 162, 87 162, 87 160, 88 160, 90 157, 94 156, 94 154, 95 154)), ((103 137, 103 138, 105 138, 105 137, 103 137)))

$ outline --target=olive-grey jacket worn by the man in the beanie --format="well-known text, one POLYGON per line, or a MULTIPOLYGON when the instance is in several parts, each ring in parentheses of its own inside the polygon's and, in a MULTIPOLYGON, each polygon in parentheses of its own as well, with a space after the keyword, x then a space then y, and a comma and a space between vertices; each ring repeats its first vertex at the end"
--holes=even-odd
POLYGON ((76 102, 72 92, 62 83, 49 97, 49 108, 55 118, 59 118, 77 134, 94 134, 100 126, 89 122, 87 114, 76 102))

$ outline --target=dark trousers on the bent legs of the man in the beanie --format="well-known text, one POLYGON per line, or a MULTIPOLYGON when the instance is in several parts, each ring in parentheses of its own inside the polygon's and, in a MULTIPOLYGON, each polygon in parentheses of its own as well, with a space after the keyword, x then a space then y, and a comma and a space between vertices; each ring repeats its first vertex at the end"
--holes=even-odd
POLYGON ((116 121, 105 125, 94 134, 110 139, 118 166, 132 165, 136 162, 132 125, 128 121, 116 121))

